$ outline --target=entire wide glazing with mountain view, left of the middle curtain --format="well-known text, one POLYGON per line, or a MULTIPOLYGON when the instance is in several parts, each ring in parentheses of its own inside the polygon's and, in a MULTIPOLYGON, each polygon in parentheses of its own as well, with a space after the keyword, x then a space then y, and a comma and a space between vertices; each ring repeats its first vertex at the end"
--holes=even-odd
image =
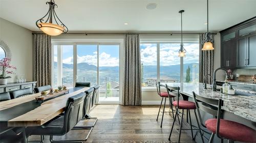
POLYGON ((100 85, 99 102, 119 102, 119 44, 53 45, 53 87, 100 85))

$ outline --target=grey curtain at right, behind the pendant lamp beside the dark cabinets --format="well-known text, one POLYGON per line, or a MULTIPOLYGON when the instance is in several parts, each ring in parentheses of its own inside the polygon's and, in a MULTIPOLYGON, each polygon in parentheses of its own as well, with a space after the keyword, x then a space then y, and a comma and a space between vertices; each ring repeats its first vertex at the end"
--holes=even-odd
MULTIPOLYGON (((204 81, 204 75, 210 74, 213 76, 214 73, 214 50, 206 50, 203 51, 201 50, 203 48, 203 45, 201 44, 201 41, 203 40, 203 37, 205 35, 201 34, 199 35, 199 49, 200 49, 200 54, 199 54, 199 82, 204 81)), ((214 35, 210 35, 212 39, 214 39, 214 35)), ((214 46, 215 47, 215 46, 214 46)), ((211 79, 210 77, 206 78, 206 83, 210 83, 211 79)))

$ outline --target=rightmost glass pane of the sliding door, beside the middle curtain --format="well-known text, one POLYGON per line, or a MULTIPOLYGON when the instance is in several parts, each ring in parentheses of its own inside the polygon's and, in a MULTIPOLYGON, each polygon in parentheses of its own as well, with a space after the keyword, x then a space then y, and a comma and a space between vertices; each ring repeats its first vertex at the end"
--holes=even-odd
POLYGON ((119 45, 99 45, 99 101, 119 101, 119 45))

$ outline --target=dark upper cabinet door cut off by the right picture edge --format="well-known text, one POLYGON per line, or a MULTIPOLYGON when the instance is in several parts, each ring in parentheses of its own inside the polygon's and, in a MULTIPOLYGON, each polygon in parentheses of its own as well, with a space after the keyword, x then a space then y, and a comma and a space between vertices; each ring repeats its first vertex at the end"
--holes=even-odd
POLYGON ((256 66, 256 35, 248 37, 248 66, 256 66))

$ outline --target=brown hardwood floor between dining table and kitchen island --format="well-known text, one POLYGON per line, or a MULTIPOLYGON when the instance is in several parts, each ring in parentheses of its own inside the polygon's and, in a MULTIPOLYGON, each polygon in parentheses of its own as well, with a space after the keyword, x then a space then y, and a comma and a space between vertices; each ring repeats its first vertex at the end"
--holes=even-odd
MULTIPOLYGON (((159 106, 121 106, 96 105, 90 112, 91 117, 97 117, 98 122, 86 142, 177 142, 178 132, 173 131, 171 140, 168 140, 173 119, 165 113, 163 127, 161 113, 156 121, 159 106)), ((90 125, 92 121, 79 124, 90 125)), ((61 138, 82 138, 87 131, 71 131, 61 138)), ((44 142, 49 142, 49 137, 44 142)), ((56 137, 59 138, 59 137, 56 137)), ((181 142, 195 142, 184 131, 181 142)))

